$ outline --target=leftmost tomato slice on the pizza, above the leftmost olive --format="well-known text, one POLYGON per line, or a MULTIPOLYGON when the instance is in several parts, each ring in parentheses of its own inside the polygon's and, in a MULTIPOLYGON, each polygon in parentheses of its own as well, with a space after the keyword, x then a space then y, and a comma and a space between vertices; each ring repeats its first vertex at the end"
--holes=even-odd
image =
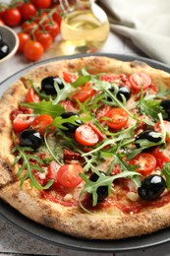
POLYGON ((34 117, 28 117, 25 114, 18 114, 13 120, 13 128, 16 132, 22 132, 29 127, 34 120, 34 117))

